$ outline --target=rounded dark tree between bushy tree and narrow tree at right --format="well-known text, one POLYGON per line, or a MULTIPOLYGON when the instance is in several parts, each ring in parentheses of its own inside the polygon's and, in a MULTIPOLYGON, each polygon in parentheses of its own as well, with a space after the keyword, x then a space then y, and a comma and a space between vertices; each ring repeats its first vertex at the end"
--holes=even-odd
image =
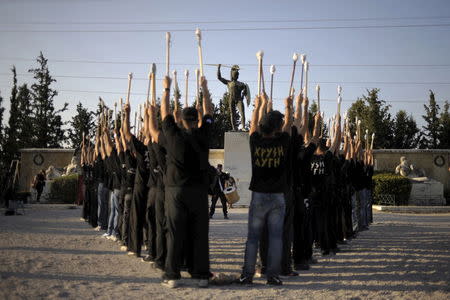
POLYGON ((411 149, 416 148, 419 143, 419 128, 414 118, 399 110, 394 120, 394 140, 392 148, 411 149))

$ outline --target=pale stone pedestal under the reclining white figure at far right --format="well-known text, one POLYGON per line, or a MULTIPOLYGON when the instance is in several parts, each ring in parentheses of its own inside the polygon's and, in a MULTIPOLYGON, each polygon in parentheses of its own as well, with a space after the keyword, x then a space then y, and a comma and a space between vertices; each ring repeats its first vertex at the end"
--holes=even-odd
POLYGON ((408 205, 445 205, 444 185, 427 177, 411 178, 411 195, 408 205))

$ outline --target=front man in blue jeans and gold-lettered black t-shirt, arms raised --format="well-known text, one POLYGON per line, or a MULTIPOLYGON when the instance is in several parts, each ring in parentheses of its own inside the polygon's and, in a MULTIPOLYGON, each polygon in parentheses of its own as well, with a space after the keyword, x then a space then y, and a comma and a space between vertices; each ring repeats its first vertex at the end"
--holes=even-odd
POLYGON ((288 190, 288 154, 292 125, 292 97, 285 100, 286 115, 269 111, 267 95, 257 96, 250 127, 252 178, 249 189, 248 235, 242 274, 237 283, 250 284, 255 274, 258 243, 264 224, 268 231, 267 284, 281 285, 284 193, 288 190))

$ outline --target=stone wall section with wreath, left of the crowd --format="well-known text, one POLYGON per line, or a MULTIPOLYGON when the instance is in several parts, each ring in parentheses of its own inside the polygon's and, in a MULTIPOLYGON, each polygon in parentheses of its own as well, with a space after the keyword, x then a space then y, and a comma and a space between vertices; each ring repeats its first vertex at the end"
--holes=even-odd
POLYGON ((41 170, 47 170, 49 166, 64 168, 72 159, 74 149, 20 149, 20 173, 19 192, 29 192, 33 177, 41 170), (39 158, 42 155, 41 165, 39 158), (36 162, 35 162, 36 161, 36 162))

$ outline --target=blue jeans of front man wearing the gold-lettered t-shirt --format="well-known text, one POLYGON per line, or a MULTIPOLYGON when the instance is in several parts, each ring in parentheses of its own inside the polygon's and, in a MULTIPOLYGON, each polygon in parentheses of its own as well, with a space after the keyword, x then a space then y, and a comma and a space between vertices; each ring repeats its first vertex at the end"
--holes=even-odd
POLYGON ((267 224, 269 240, 267 278, 280 274, 285 207, 283 193, 252 192, 252 200, 248 212, 248 234, 242 272, 244 276, 253 277, 255 275, 258 243, 265 224, 267 224))

